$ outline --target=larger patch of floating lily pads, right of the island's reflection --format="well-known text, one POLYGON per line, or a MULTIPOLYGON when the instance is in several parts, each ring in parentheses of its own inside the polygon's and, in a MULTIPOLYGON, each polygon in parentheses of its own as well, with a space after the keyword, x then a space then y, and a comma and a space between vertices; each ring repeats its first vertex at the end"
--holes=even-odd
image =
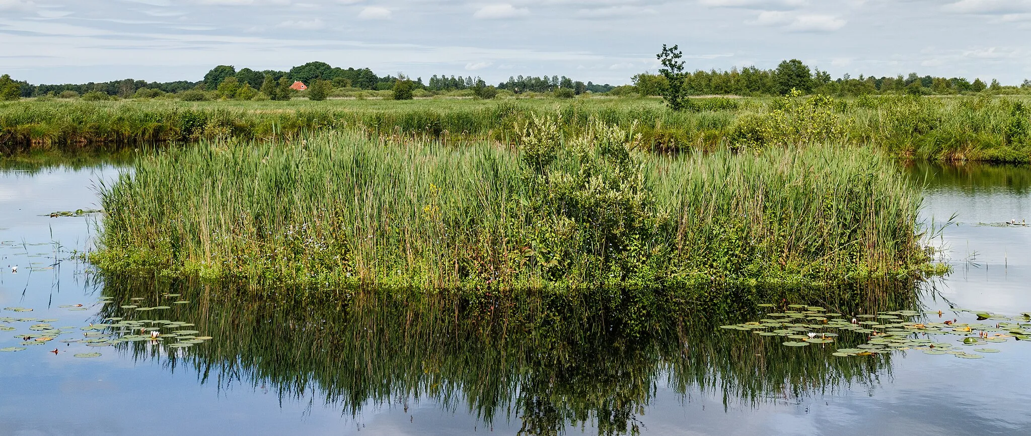
MULTIPOLYGON (((774 307, 772 304, 760 304, 759 306, 774 307)), ((836 357, 864 357, 914 349, 932 356, 953 355, 962 359, 982 359, 984 356, 957 349, 952 343, 945 342, 945 337, 959 336, 956 339, 956 342, 961 344, 959 346, 1000 343, 1006 342, 1009 338, 1031 340, 1031 314, 1029 313, 1007 316, 965 308, 953 309, 957 313, 969 312, 976 316, 977 321, 998 322, 985 324, 959 323, 957 320, 922 321, 927 315, 940 317, 943 314, 940 311, 924 313, 914 310, 896 310, 876 314, 857 314, 846 318, 842 317, 840 313, 827 313, 828 310, 822 307, 799 304, 787 307, 798 310, 771 312, 759 322, 721 326, 721 328, 751 331, 760 336, 800 339, 783 342, 783 345, 791 347, 834 343, 841 337, 839 335, 850 335, 849 339, 865 339, 865 343, 855 347, 834 348, 831 355, 836 357), (832 333, 834 331, 838 333, 832 333)), ((972 350, 985 354, 999 353, 998 349, 988 347, 973 348, 972 350)))

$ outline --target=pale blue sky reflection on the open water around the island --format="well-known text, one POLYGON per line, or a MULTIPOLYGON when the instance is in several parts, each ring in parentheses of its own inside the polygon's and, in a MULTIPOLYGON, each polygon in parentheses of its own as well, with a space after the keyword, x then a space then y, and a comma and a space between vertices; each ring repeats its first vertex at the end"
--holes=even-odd
MULTIPOLYGON (((35 311, 25 315, 60 318, 55 326, 81 326, 90 321, 94 311, 58 307, 95 301, 79 266, 65 261, 61 269, 31 274, 29 266, 53 263, 53 240, 67 247, 89 247, 91 220, 39 215, 96 207, 92 180, 115 174, 111 168, 56 169, 37 176, 0 173, 0 241, 14 241, 0 244, 0 264, 22 266, 16 275, 0 270, 0 307, 32 307, 35 311)), ((978 222, 1031 219, 1028 200, 1028 194, 991 188, 939 186, 929 193, 927 216, 946 219, 959 212, 961 222, 944 237, 957 272, 936 284, 936 297, 968 308, 1005 313, 1031 310, 1026 284, 1031 282, 1031 262, 1020 256, 1031 246, 1031 228, 975 226, 978 222), (972 250, 978 253, 979 267, 958 263, 972 250)), ((65 253, 58 259, 67 257, 65 253)), ((947 307, 940 299, 925 298, 925 303, 947 307)), ((0 311, 0 316, 12 313, 0 311)), ((19 326, 20 331, 26 327, 19 326)), ((0 332, 0 347, 18 343, 8 332, 0 332)), ((801 399, 798 404, 775 401, 753 408, 731 400, 725 411, 720 394, 695 390, 685 398, 660 382, 656 398, 638 420, 644 434, 1027 434, 1031 432, 1031 413, 1024 405, 1031 403, 1031 379, 1026 377, 1024 363, 1031 360, 1031 344, 1006 342, 992 347, 1002 353, 975 361, 896 354, 891 373, 879 374, 874 385, 856 384, 801 399)), ((252 387, 251 380, 220 387, 212 375, 211 381, 202 384, 193 369, 173 371, 160 362, 134 362, 114 349, 100 349, 104 356, 93 360, 71 357, 95 350, 78 344, 0 353, 0 436, 201 432, 450 435, 489 431, 461 403, 455 410, 446 410, 432 401, 408 399, 407 412, 395 402, 369 406, 358 418, 352 418, 336 407, 324 406, 318 392, 280 403, 274 390, 266 393, 261 385, 252 387), (67 351, 57 356, 45 353, 54 347, 67 351)), ((518 416, 510 421, 499 416, 493 431, 516 434, 520 426, 518 416)), ((570 434, 579 432, 578 428, 569 429, 570 434)), ((586 429, 586 433, 595 432, 586 429)))

